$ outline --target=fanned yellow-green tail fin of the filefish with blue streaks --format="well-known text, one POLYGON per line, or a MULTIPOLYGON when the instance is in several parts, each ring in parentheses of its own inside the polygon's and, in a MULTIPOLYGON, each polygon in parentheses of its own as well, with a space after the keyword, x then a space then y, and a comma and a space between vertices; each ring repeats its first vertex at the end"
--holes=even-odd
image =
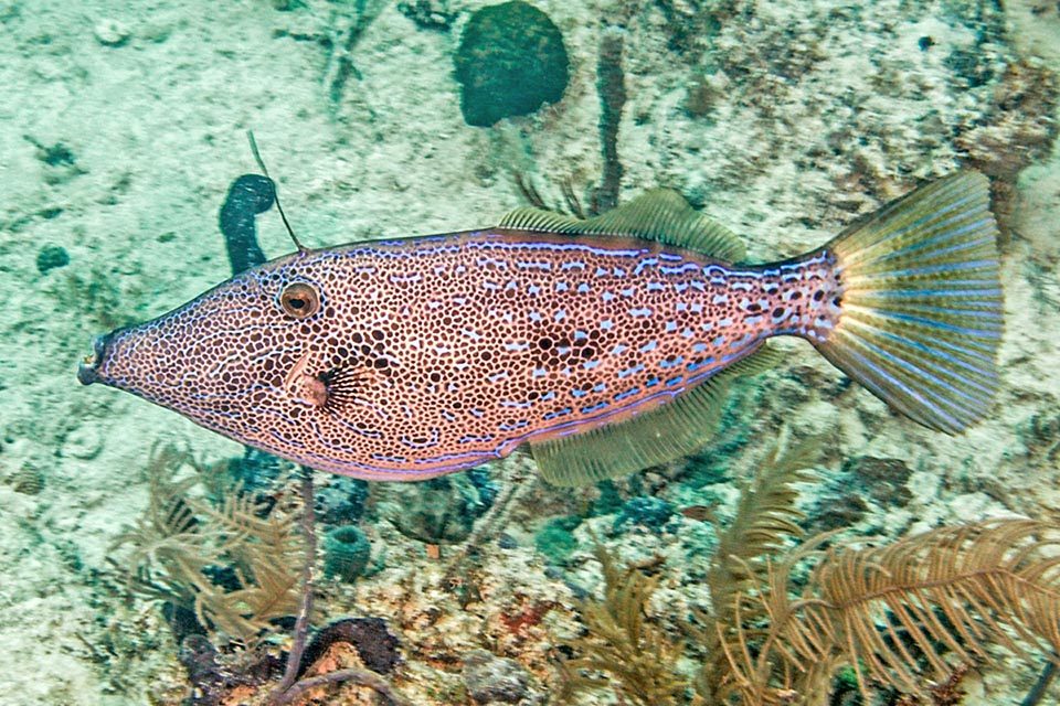
POLYGON ((842 313, 815 344, 888 405, 958 432, 997 393, 1003 300, 988 182, 961 172, 833 240, 842 313))

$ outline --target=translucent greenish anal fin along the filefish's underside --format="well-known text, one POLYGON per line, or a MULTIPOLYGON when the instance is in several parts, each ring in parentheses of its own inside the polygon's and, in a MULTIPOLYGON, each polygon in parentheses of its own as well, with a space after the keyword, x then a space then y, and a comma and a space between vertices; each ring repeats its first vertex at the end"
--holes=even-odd
POLYGON ((530 443, 545 481, 573 488, 660 466, 710 439, 732 381, 773 367, 781 354, 762 345, 751 355, 667 404, 618 424, 530 443))

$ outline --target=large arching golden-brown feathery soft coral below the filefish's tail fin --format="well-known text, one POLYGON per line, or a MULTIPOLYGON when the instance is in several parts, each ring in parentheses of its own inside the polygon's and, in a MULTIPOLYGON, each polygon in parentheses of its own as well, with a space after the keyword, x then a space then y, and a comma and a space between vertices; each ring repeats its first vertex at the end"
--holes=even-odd
POLYGON ((989 644, 1026 655, 1060 650, 1060 527, 995 520, 943 527, 882 547, 810 542, 772 565, 736 613, 764 613, 755 644, 744 631, 728 640, 744 703, 776 704, 780 694, 809 699, 839 665, 851 666, 868 702, 869 681, 930 699, 929 681, 957 664, 992 659, 989 644), (813 570, 793 596, 793 569, 813 570))

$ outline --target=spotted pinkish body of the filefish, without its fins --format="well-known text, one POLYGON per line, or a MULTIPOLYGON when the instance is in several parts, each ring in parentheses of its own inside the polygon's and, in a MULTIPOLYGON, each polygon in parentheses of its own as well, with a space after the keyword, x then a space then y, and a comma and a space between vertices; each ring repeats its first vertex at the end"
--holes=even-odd
POLYGON ((312 468, 420 480, 656 408, 770 336, 823 339, 834 268, 504 229, 305 250, 100 339, 80 377, 312 468), (314 314, 284 310, 292 287, 314 314))

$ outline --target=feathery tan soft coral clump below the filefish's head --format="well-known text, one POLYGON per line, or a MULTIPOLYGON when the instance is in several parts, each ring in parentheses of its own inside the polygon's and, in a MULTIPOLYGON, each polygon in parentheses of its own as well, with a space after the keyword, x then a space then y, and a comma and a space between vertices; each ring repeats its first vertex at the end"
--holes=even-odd
POLYGON ((147 466, 147 511, 117 545, 130 545, 129 587, 194 611, 203 628, 254 644, 298 608, 303 563, 294 498, 267 506, 236 486, 212 503, 223 466, 156 448, 147 466), (174 480, 176 479, 176 480, 174 480), (230 570, 227 570, 230 567, 230 570))

